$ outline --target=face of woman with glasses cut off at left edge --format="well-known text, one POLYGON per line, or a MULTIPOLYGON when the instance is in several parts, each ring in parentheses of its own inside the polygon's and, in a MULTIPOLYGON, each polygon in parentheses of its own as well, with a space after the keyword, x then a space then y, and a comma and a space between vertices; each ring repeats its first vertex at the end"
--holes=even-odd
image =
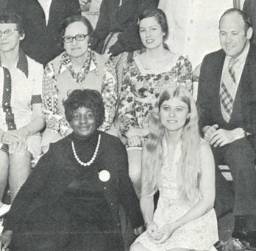
POLYGON ((24 39, 24 35, 21 36, 18 34, 17 25, 15 23, 0 23, 0 31, 4 32, 7 29, 13 29, 13 34, 9 37, 4 34, 0 37, 0 51, 8 52, 8 51, 17 51, 20 46, 20 40, 24 39))

